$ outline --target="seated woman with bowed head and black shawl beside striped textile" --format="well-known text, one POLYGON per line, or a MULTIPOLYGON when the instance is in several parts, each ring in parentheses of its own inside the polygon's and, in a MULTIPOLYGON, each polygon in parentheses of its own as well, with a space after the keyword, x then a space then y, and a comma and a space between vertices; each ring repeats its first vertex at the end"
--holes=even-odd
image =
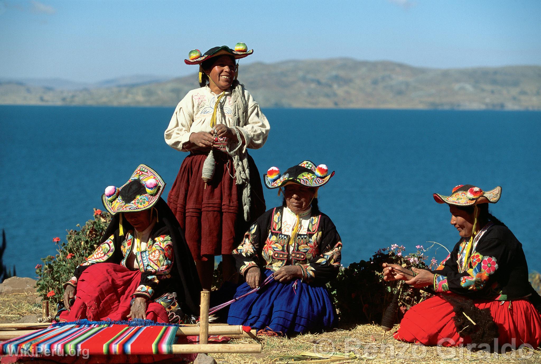
POLYGON ((122 187, 107 187, 102 201, 113 219, 65 283, 60 321, 180 323, 197 314, 201 285, 180 225, 160 197, 165 185, 142 164, 122 187))

